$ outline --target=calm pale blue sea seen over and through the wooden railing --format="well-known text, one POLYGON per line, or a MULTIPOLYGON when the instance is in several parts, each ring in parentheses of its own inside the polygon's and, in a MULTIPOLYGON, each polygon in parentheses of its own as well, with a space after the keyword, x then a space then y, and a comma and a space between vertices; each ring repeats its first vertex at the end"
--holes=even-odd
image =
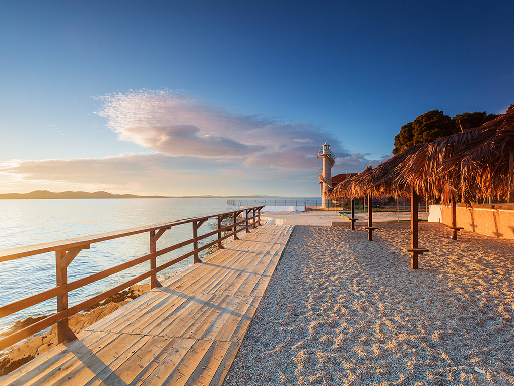
MULTIPOLYGON (((315 198, 267 198, 268 205, 299 205, 315 198)), ((319 199, 318 199, 319 201, 319 199)), ((263 205, 264 199, 234 199, 236 205, 263 205)), ((131 227, 224 212, 227 199, 52 199, 0 200, 0 250, 23 245, 88 236, 131 227)), ((215 221, 215 220, 211 220, 215 221)), ((198 235, 215 229, 205 222, 198 235)), ((157 250, 192 237, 192 224, 173 226, 157 241, 157 250)), ((199 246, 215 236, 199 242, 199 246)), ((192 245, 157 257, 157 265, 191 251, 192 245)), ((68 266, 68 282, 114 267, 150 252, 149 233, 91 244, 68 266)), ((204 252, 205 253, 205 252, 204 252)), ((187 258, 160 272, 161 279, 192 264, 187 258)), ((56 286, 55 252, 0 262, 0 306, 56 286)), ((113 288, 150 269, 150 262, 124 270, 68 293, 68 306, 113 288)), ((141 283, 147 283, 145 280, 141 283)), ((0 329, 17 320, 56 312, 56 299, 50 299, 0 319, 0 329)))

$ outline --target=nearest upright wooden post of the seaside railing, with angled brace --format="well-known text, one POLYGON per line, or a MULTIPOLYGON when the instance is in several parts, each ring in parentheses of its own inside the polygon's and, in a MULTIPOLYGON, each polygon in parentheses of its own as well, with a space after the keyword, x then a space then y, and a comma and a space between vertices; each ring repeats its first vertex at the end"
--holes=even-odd
MULTIPOLYGON (((57 286, 66 286, 68 284, 68 265, 79 254, 82 248, 74 248, 66 251, 56 251, 56 276, 57 286)), ((57 312, 68 309, 68 291, 62 295, 57 295, 57 312)), ((57 322, 57 342, 77 339, 73 331, 68 326, 68 318, 64 318, 57 322)))

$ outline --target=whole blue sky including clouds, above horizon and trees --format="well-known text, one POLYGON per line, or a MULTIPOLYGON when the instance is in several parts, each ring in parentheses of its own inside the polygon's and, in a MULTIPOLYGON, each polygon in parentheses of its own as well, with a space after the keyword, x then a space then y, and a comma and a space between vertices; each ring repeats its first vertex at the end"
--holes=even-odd
POLYGON ((514 103, 512 2, 275 3, 3 3, 0 190, 315 196, 514 103))

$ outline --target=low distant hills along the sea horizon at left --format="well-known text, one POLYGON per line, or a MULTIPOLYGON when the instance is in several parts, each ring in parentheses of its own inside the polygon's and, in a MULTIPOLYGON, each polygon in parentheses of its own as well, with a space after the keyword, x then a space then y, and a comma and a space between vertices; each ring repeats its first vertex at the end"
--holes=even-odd
MULTIPOLYGON (((275 196, 188 196, 188 197, 172 197, 172 196, 136 196, 136 195, 114 195, 107 191, 61 191, 53 192, 48 190, 34 190, 30 193, 4 193, 0 194, 0 200, 14 199, 63 199, 63 198, 269 198, 275 196)), ((281 197, 280 197, 281 198, 281 197)))

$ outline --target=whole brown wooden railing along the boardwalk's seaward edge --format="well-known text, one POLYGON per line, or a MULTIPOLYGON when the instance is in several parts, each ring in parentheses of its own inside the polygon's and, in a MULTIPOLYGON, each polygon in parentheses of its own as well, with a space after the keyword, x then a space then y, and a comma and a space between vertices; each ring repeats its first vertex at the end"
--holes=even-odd
POLYGON ((157 280, 157 272, 169 268, 177 262, 190 256, 193 256, 194 264, 196 264, 197 262, 201 262, 198 258, 198 252, 201 252, 214 244, 217 244, 219 249, 223 249, 224 247, 222 245, 222 240, 231 236, 234 237, 234 240, 237 240, 238 232, 246 230, 246 232, 248 233, 250 232, 250 228, 256 228, 258 225, 261 225, 261 209, 263 207, 264 206, 252 206, 203 217, 193 217, 166 223, 159 223, 137 228, 125 229, 122 231, 107 232, 91 236, 76 237, 61 241, 28 245, 26 247, 0 250, 0 262, 19 259, 26 256, 38 255, 46 252, 56 252, 57 273, 56 287, 0 307, 0 318, 3 318, 14 312, 45 302, 49 299, 52 299, 53 297, 57 297, 57 313, 54 313, 43 320, 33 323, 21 330, 13 332, 11 335, 7 337, 0 339, 0 350, 11 346, 16 342, 19 342, 22 339, 25 339, 35 334, 36 332, 48 328, 53 324, 57 324, 57 338, 59 343, 62 343, 65 340, 76 339, 75 334, 68 327, 68 318, 71 315, 83 311, 84 309, 91 307, 97 304, 98 302, 107 299, 107 297, 112 296, 136 283, 139 283, 141 280, 148 277, 150 277, 152 288, 161 287, 162 285, 157 280), (244 217, 238 220, 237 217, 239 215, 242 215, 243 213, 244 217), (203 224, 210 218, 217 219, 217 229, 198 236, 198 228, 201 224, 203 224), (232 222, 230 222, 228 225, 222 226, 222 221, 227 218, 231 218, 232 222), (177 244, 173 244, 170 247, 166 247, 157 251, 156 241, 162 236, 164 232, 171 229, 172 226, 187 223, 192 224, 193 237, 191 239, 179 242, 177 244), (238 227, 239 225, 242 226, 238 227), (229 230, 231 230, 231 232, 222 236, 223 231, 229 230), (82 251, 83 249, 89 249, 90 244, 125 236, 131 236, 144 232, 149 232, 150 234, 149 254, 146 254, 144 256, 124 262, 123 264, 117 265, 115 267, 106 269, 98 273, 94 273, 92 275, 68 283, 66 271, 69 264, 71 263, 71 261, 73 261, 75 257, 77 257, 80 251, 82 251), (214 235, 217 235, 217 238, 214 241, 211 241, 205 245, 202 245, 201 247, 198 247, 199 240, 214 235), (177 258, 174 258, 173 260, 167 261, 164 264, 161 264, 160 266, 157 266, 156 258, 158 256, 177 250, 188 244, 193 244, 192 251, 183 254, 177 258), (108 291, 93 296, 84 302, 76 304, 72 307, 68 307, 68 292, 76 290, 93 282, 96 282, 97 280, 103 279, 107 276, 121 272, 127 268, 134 267, 145 261, 150 261, 149 271, 139 276, 136 276, 131 280, 128 280, 127 282, 122 283, 112 289, 109 289, 108 291))

